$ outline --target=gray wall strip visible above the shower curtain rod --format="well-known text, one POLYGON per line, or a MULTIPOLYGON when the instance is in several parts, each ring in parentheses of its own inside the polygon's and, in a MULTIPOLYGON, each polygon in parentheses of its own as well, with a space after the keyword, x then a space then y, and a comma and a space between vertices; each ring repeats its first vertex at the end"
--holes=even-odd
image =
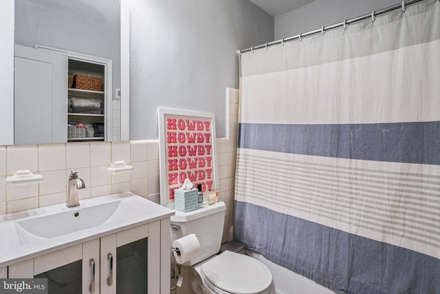
POLYGON ((275 17, 275 39, 295 36, 393 6, 399 0, 316 0, 306 6, 275 17))

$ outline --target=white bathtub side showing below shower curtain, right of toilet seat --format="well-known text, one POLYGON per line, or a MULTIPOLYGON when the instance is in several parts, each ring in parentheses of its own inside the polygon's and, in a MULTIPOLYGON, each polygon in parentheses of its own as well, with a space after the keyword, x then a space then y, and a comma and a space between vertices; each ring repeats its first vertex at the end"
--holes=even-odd
POLYGON ((246 249, 246 254, 252 258, 263 262, 271 271, 274 279, 276 294, 335 294, 329 288, 325 288, 316 282, 298 275, 293 271, 285 269, 270 260, 267 260, 263 255, 246 249))

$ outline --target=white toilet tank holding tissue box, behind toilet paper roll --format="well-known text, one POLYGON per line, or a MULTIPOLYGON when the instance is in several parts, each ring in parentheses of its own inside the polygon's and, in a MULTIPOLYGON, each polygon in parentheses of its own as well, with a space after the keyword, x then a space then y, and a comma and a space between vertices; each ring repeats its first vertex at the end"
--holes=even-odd
POLYGON ((200 255, 183 265, 197 264, 219 252, 225 209, 225 203, 219 201, 212 205, 202 204, 199 209, 193 211, 175 211, 175 215, 171 216, 171 244, 174 240, 192 233, 195 233, 200 243, 200 255), (174 227, 173 224, 179 226, 180 229, 174 227))

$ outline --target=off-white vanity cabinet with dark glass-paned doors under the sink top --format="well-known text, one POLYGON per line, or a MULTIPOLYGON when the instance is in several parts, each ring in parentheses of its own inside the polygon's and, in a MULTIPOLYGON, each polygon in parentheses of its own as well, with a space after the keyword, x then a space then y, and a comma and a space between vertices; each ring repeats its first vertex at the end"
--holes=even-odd
POLYGON ((169 223, 157 220, 12 264, 8 277, 47 278, 51 294, 169 293, 160 290, 161 222, 169 223))

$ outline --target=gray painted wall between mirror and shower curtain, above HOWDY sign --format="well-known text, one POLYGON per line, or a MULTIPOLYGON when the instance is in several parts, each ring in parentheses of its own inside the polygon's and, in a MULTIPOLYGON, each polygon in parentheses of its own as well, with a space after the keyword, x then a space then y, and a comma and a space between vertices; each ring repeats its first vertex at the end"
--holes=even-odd
POLYGON ((248 0, 131 0, 130 139, 157 139, 157 107, 214 112, 225 136, 225 88, 236 50, 274 39, 274 18, 248 0))

